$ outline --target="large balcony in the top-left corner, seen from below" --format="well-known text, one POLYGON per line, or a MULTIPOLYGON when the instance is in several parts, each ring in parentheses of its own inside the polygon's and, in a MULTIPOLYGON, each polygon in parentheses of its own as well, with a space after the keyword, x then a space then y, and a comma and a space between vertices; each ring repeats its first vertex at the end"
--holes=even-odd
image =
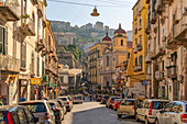
POLYGON ((0 2, 0 18, 3 22, 8 21, 19 21, 18 7, 20 5, 18 0, 6 0, 6 2, 0 2))

